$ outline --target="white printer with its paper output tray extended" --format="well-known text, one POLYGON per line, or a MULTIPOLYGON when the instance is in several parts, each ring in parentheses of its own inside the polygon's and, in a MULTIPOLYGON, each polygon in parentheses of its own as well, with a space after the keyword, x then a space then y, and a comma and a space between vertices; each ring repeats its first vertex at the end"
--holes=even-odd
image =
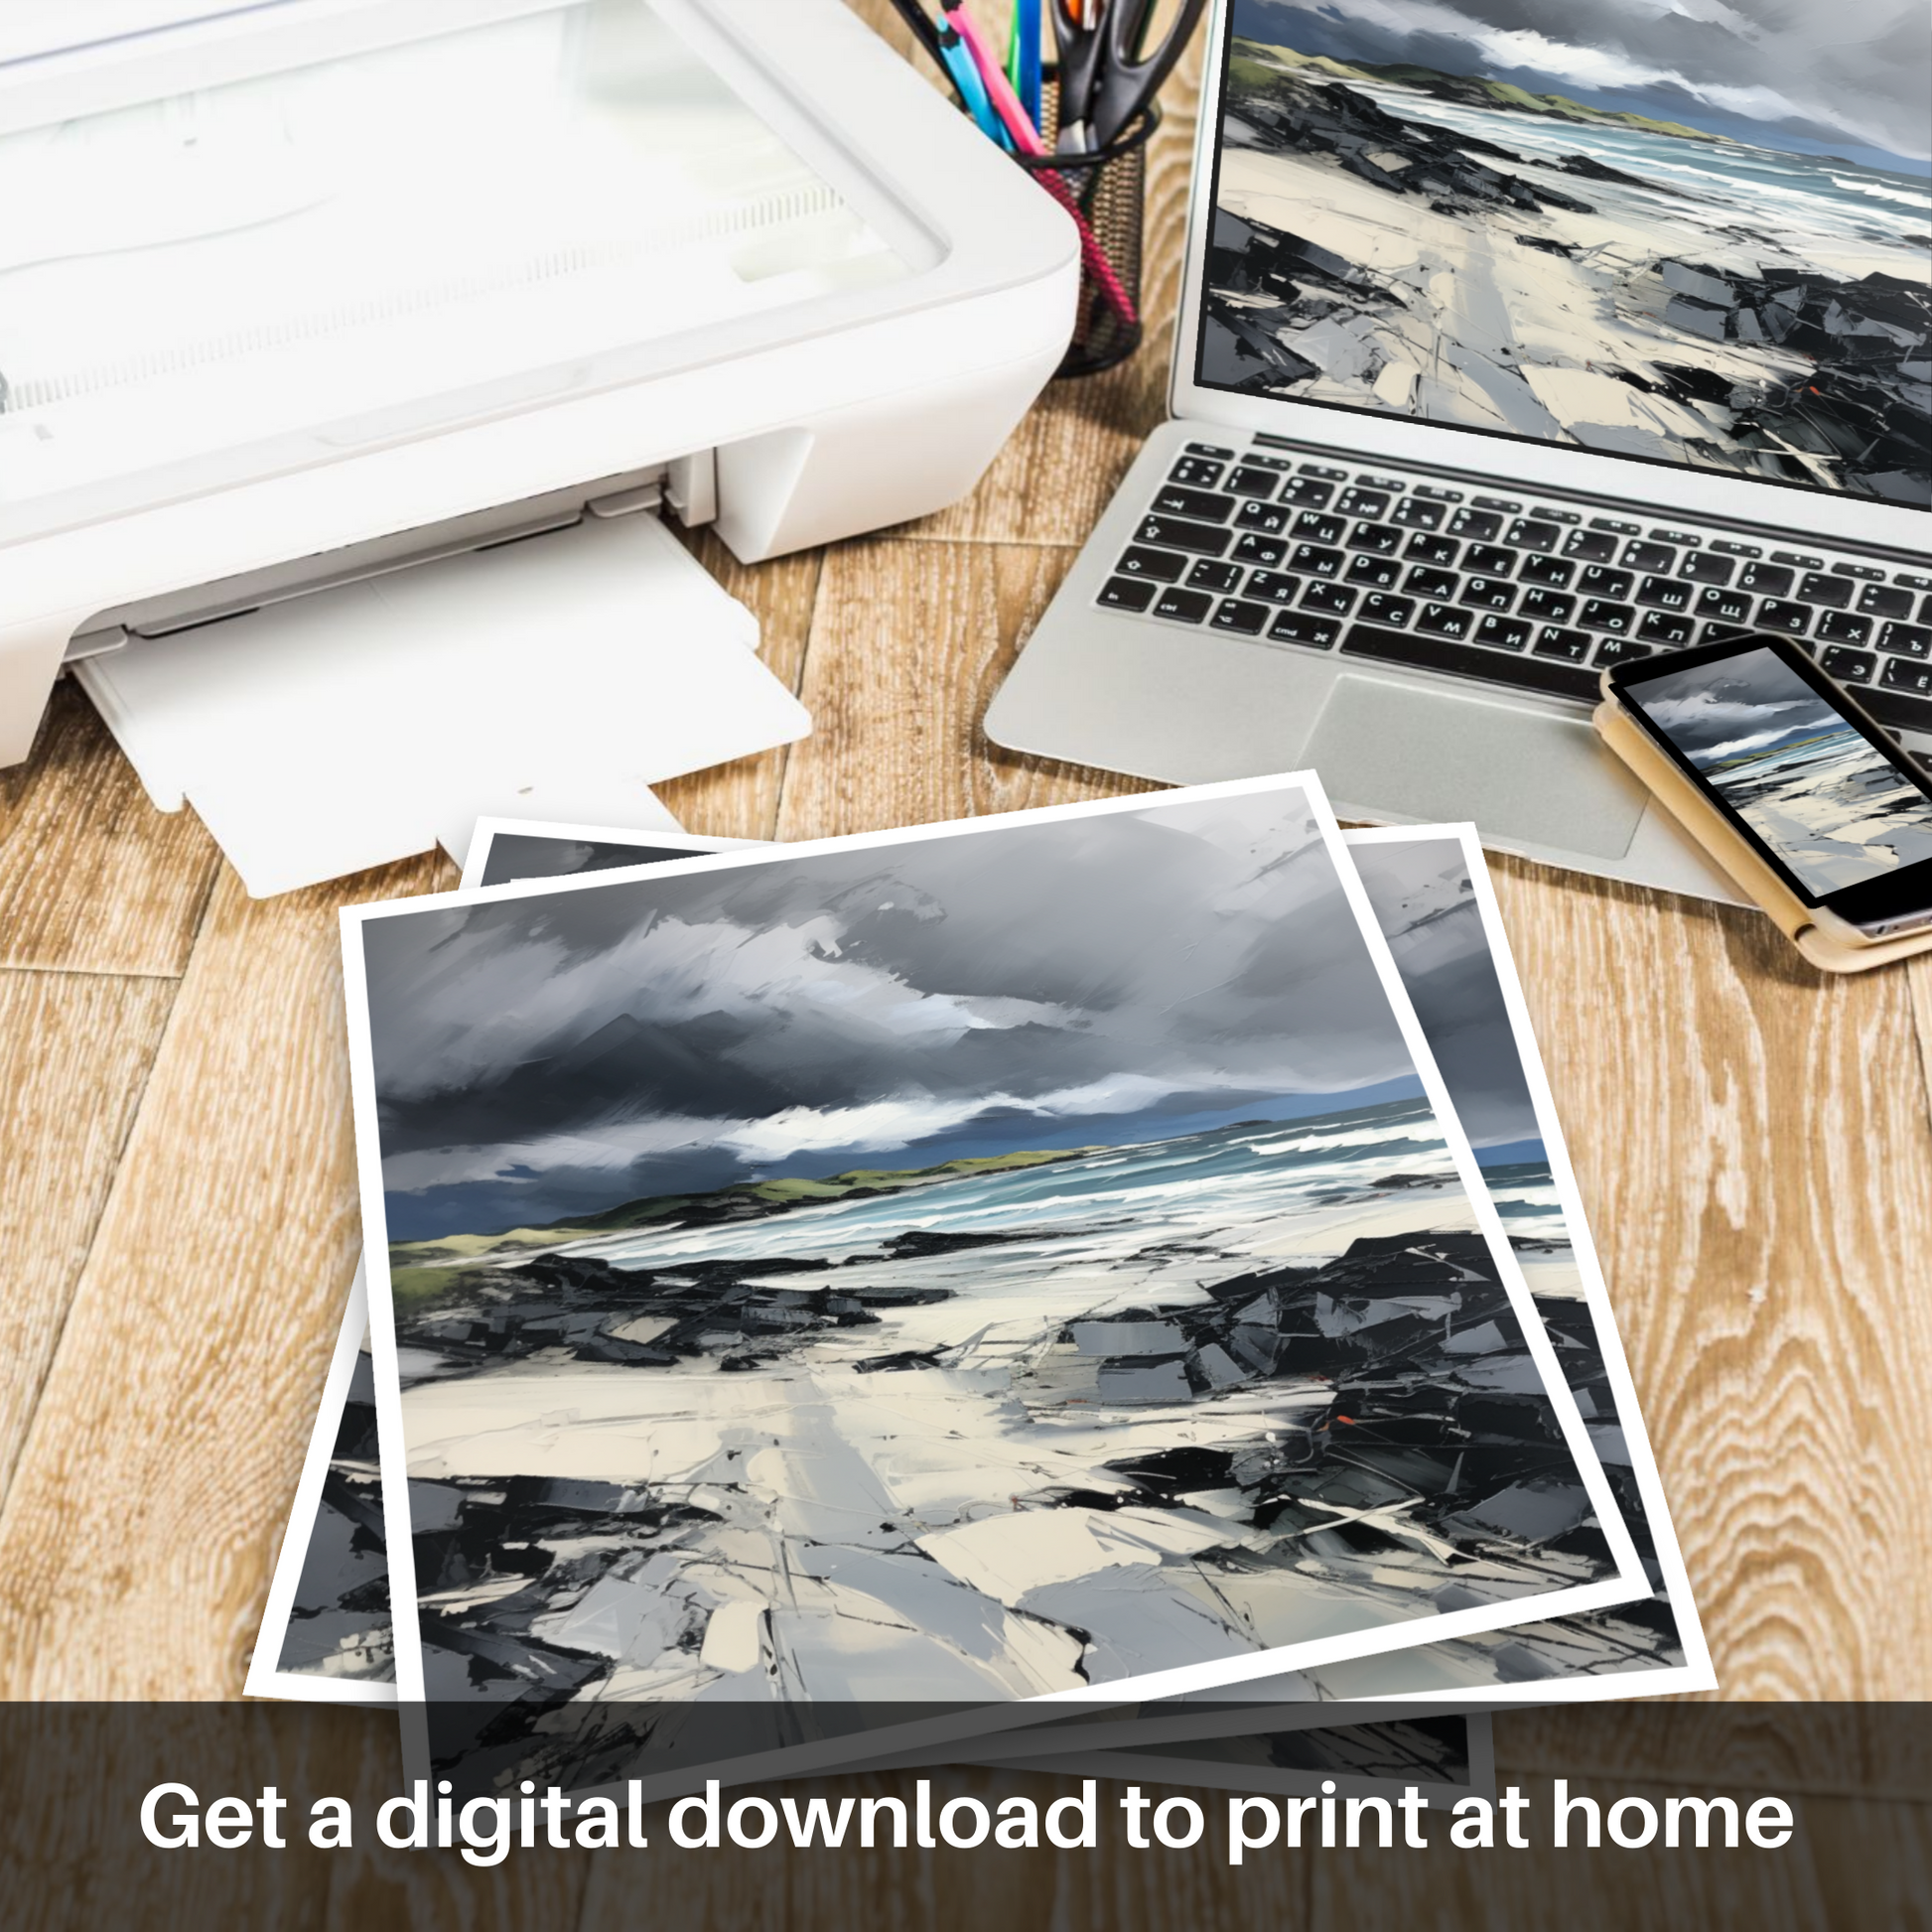
MULTIPOLYGON (((753 562, 958 498, 1076 284, 1061 209, 840 0, 14 4, 0 765, 75 663, 156 802, 218 837, 276 769, 315 819, 330 771, 458 740, 500 769, 452 823, 595 819, 560 721, 647 738, 678 639, 732 632, 636 520, 753 562), (558 543, 582 562, 539 560, 558 543), (305 767, 330 699, 388 734, 305 767), (211 808, 230 753, 257 769, 211 808)), ((626 782, 802 728, 667 726, 626 782)), ((398 838, 429 842, 386 823, 354 854, 398 838)))

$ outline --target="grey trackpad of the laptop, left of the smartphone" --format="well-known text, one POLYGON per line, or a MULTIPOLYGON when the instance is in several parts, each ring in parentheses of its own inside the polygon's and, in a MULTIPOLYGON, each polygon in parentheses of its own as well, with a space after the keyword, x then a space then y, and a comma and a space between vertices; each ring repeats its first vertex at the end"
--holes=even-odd
POLYGON ((1335 810, 1474 819, 1493 838, 1623 858, 1648 792, 1582 721, 1453 692, 1345 676, 1302 763, 1335 810))

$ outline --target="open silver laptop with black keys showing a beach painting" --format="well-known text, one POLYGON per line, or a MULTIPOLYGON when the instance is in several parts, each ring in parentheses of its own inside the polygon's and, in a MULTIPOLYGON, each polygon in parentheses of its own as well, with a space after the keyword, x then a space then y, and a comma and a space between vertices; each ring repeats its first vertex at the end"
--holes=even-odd
POLYGON ((1801 638, 1932 765, 1932 15, 1219 0, 1171 421, 985 719, 1739 900, 1604 667, 1801 638))

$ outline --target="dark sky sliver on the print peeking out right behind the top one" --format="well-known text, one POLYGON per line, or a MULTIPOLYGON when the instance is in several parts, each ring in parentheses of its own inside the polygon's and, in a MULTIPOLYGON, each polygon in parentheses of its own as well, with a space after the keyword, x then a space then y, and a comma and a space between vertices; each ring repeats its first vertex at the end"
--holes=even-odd
POLYGON ((1457 1117, 1493 1148, 1540 1136, 1482 908, 1453 838, 1352 844, 1376 923, 1387 933, 1457 1117))

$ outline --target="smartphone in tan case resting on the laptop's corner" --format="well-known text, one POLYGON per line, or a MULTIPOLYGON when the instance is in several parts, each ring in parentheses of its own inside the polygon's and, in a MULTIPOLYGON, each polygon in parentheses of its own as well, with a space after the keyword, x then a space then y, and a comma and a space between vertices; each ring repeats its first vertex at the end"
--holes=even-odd
POLYGON ((1789 638, 1617 665, 1605 696, 1853 943, 1932 927, 1932 775, 1789 638))

